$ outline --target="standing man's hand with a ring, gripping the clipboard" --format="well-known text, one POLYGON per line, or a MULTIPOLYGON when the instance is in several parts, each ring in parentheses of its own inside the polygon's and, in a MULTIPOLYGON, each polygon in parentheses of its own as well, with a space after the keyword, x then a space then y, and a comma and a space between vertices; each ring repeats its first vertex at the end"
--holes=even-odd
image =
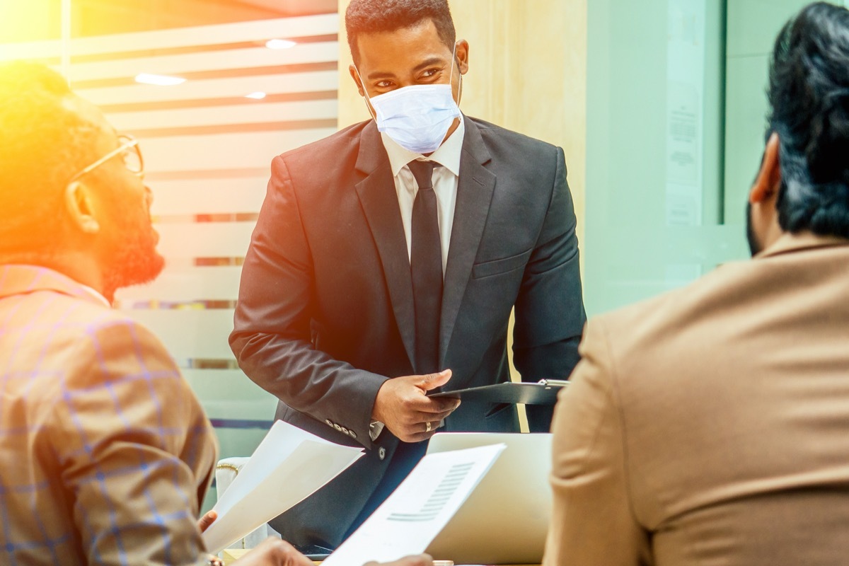
POLYGON ((459 399, 431 399, 426 394, 448 383, 451 370, 387 379, 377 392, 372 418, 384 423, 403 442, 428 440, 441 420, 460 405, 459 399))

